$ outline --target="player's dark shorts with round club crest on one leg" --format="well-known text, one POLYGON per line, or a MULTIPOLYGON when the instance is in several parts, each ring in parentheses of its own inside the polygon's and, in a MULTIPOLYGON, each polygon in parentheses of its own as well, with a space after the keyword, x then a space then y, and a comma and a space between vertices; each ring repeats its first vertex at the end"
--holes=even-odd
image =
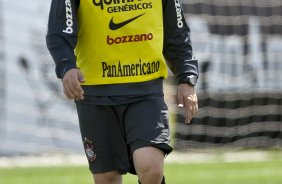
POLYGON ((93 174, 119 171, 135 174, 134 150, 154 146, 164 154, 169 146, 168 109, 162 95, 144 97, 125 105, 76 102, 89 169, 93 174))

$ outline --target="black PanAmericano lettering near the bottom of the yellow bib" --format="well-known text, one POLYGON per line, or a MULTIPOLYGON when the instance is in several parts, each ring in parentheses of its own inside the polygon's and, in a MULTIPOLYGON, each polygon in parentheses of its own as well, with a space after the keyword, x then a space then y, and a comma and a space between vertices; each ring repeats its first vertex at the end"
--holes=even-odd
POLYGON ((132 77, 142 76, 157 73, 160 70, 160 61, 139 62, 133 64, 123 64, 120 61, 118 64, 101 63, 102 77, 132 77))

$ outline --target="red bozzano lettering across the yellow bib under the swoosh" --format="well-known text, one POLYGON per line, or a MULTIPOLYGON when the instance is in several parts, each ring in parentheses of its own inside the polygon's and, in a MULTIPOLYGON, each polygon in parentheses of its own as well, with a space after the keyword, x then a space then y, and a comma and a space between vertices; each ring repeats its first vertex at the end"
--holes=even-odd
POLYGON ((110 37, 107 36, 107 44, 114 45, 114 44, 123 44, 123 43, 132 43, 132 42, 144 42, 153 40, 154 35, 152 33, 148 34, 140 34, 140 35, 127 35, 127 36, 118 36, 118 37, 110 37))

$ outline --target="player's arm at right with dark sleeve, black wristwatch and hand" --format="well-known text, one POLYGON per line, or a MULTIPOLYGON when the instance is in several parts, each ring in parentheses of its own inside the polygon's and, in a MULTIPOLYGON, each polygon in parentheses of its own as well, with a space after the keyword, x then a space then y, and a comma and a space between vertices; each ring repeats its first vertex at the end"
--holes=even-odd
POLYGON ((186 123, 198 112, 198 99, 194 85, 186 81, 198 78, 198 60, 193 56, 190 29, 186 24, 180 0, 163 0, 164 49, 169 68, 178 80, 178 106, 185 108, 186 123))

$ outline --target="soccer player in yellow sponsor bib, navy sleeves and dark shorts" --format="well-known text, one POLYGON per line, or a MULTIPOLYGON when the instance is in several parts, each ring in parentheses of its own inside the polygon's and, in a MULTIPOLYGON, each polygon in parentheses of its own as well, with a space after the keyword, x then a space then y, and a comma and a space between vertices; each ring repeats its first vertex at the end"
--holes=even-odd
POLYGON ((77 107, 96 184, 165 183, 172 151, 163 79, 178 82, 186 123, 198 111, 198 61, 180 0, 52 0, 47 46, 77 107))

